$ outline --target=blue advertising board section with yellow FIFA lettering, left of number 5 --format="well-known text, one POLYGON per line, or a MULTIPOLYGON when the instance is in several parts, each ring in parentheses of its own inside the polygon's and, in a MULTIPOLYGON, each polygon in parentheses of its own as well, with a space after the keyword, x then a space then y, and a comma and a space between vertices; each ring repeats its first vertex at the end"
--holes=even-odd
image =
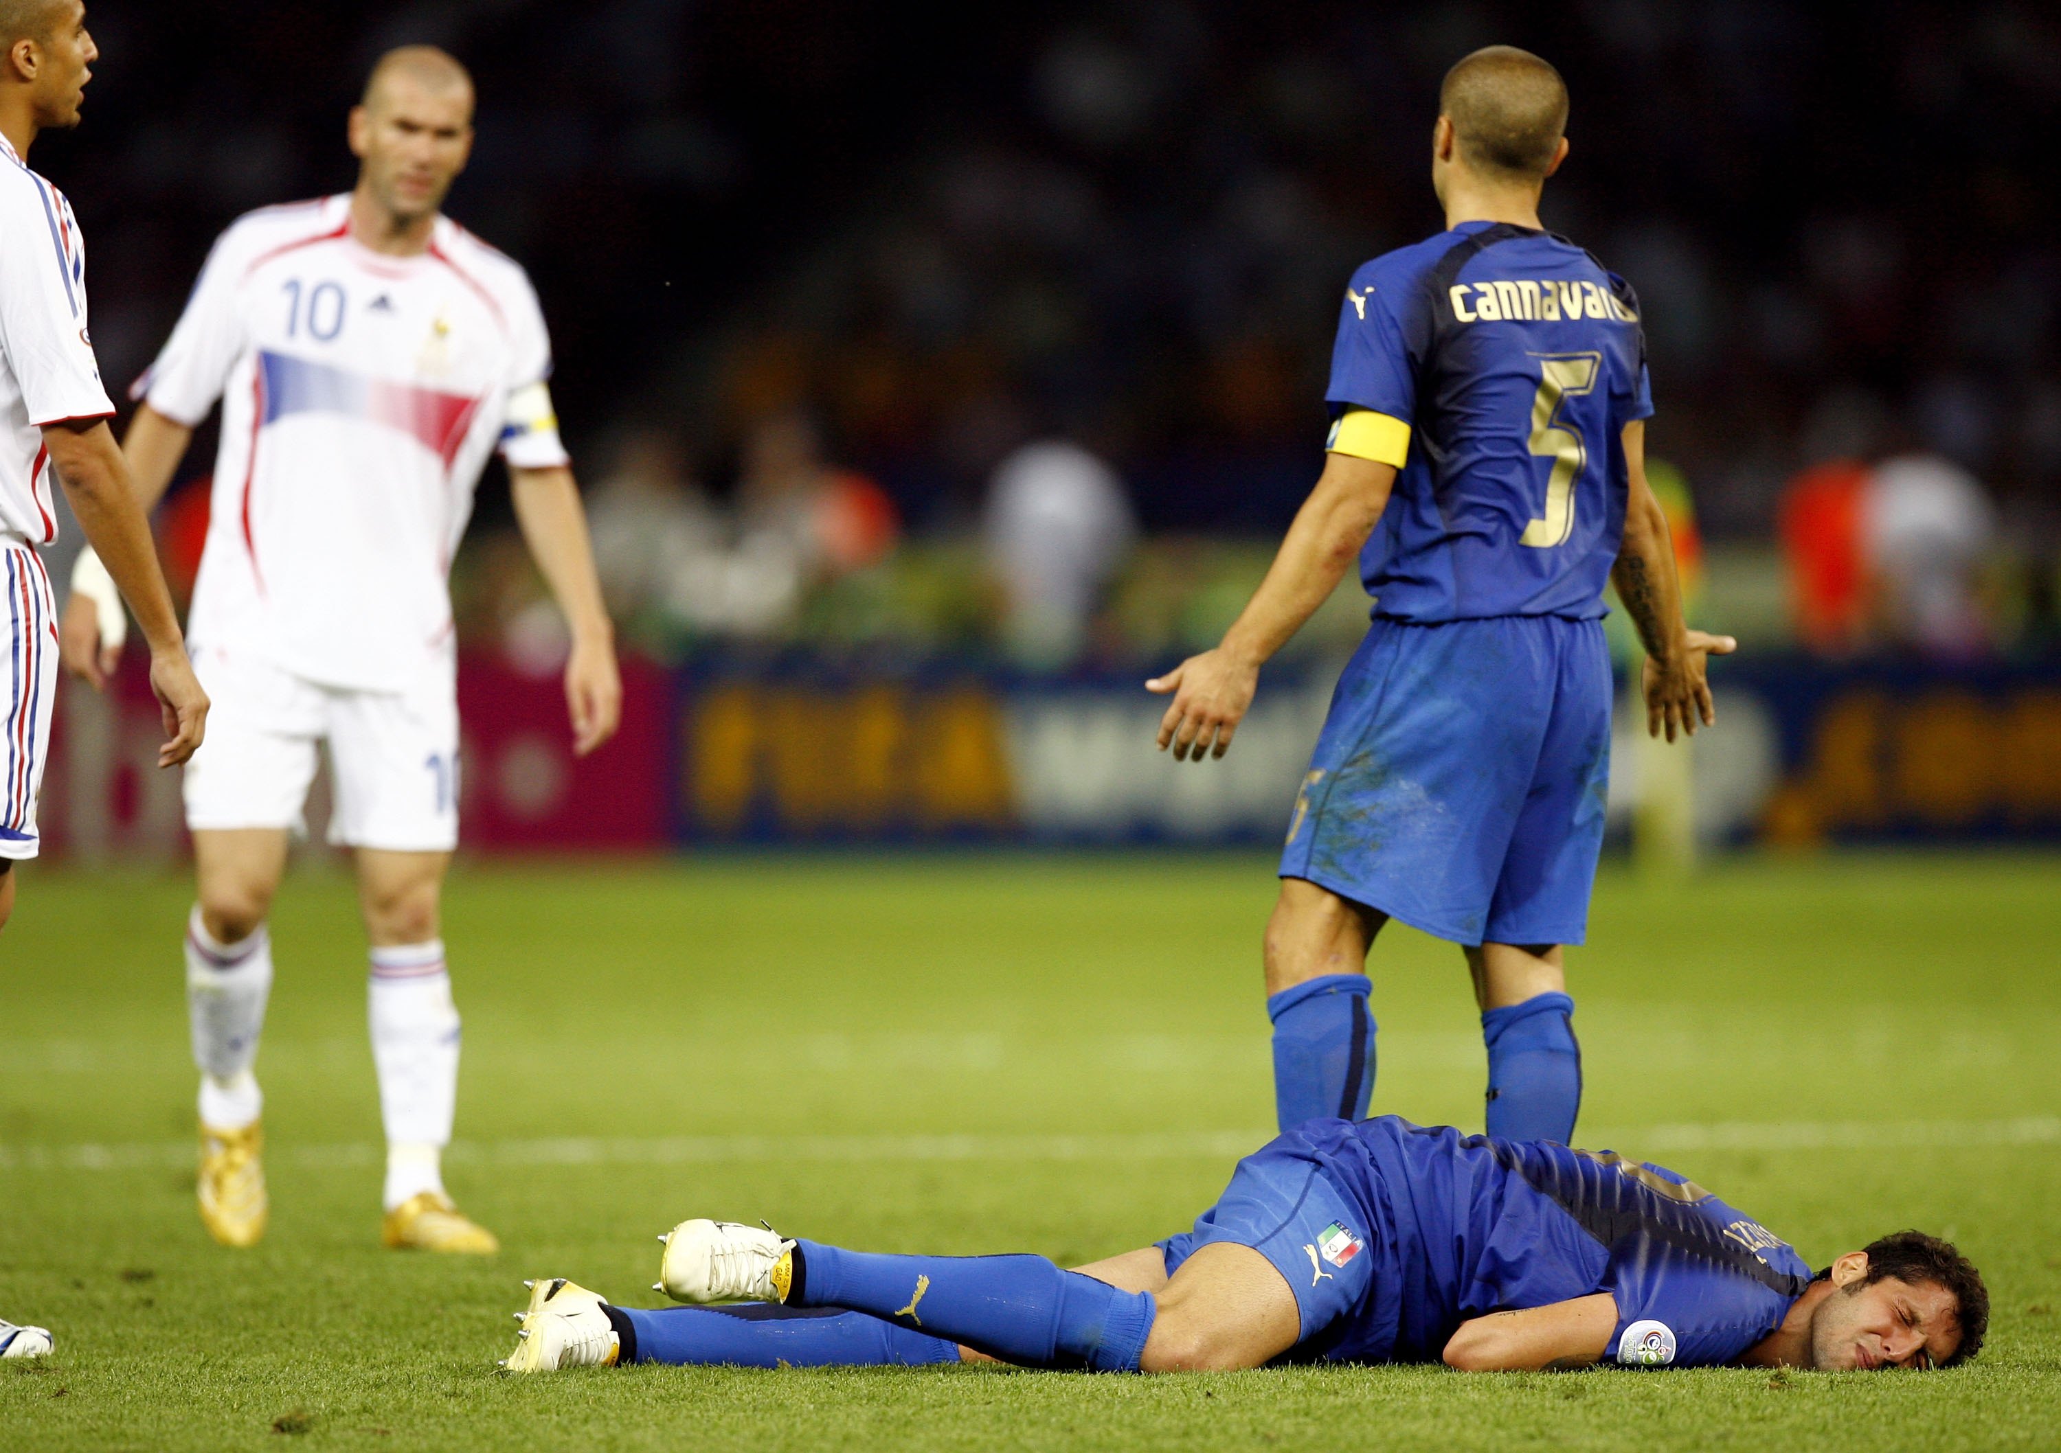
POLYGON ((1232 843, 1286 829, 1329 686, 1270 676, 1237 748, 1175 763, 1142 676, 690 672, 686 841, 1232 843))

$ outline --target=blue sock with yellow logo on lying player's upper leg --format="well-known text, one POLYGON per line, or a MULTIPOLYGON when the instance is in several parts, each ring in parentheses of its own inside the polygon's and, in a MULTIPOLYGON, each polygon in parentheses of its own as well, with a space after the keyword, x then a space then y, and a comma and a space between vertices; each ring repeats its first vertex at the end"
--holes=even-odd
POLYGON ((847 1307, 1022 1366, 1136 1373, 1150 1292, 1119 1292, 1045 1257, 888 1257, 796 1243, 789 1305, 847 1307))

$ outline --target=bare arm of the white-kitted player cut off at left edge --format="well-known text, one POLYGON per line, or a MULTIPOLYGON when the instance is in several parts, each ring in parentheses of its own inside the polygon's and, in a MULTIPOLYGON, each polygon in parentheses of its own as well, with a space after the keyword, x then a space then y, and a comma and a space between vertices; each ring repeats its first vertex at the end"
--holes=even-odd
POLYGON ((99 552, 122 598, 128 600, 150 643, 150 688, 165 713, 165 746, 159 767, 183 763, 200 746, 208 721, 208 697, 185 660, 179 616, 157 567, 150 521, 136 503, 128 462, 115 445, 107 420, 62 420, 43 425, 49 462, 64 484, 64 497, 78 515, 80 530, 99 552))

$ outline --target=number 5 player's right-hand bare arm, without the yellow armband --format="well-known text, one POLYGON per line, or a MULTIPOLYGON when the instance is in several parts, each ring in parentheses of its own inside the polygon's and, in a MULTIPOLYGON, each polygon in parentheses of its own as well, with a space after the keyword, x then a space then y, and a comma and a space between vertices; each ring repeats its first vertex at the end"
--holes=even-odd
POLYGON ((1711 655, 1731 655, 1739 643, 1729 635, 1690 631, 1682 618, 1682 581, 1676 575, 1667 511, 1647 482, 1643 418, 1624 427, 1624 468, 1630 484, 1624 503, 1624 542, 1618 546, 1618 563, 1610 567, 1610 583, 1618 587, 1618 600, 1647 647, 1641 672, 1647 732, 1653 736, 1667 732, 1667 740, 1674 742, 1678 730, 1696 736, 1698 725, 1717 721, 1704 664, 1711 655))

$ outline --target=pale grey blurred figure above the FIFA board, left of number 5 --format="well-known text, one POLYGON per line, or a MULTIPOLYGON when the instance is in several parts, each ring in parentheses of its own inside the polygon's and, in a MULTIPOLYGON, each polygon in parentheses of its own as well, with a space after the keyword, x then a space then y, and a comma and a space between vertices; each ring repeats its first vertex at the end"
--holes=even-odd
POLYGON ((1026 443, 995 470, 987 556, 1008 596, 1006 637, 1024 666, 1068 666, 1138 528, 1123 480, 1063 439, 1026 443))

